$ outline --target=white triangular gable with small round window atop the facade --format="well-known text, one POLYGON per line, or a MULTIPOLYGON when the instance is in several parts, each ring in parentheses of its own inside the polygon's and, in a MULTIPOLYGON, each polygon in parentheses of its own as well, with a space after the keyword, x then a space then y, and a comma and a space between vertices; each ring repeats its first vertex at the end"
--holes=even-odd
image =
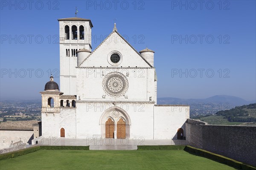
POLYGON ((113 31, 78 67, 152 67, 117 31, 113 31), (117 53, 121 57, 118 65, 113 65, 110 56, 117 53))

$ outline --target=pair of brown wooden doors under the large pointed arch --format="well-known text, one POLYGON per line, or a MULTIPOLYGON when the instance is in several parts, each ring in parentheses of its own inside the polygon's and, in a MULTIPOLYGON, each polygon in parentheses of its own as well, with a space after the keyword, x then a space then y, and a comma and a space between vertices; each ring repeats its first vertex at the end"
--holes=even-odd
MULTIPOLYGON (((114 122, 109 118, 108 121, 105 124, 106 126, 106 138, 114 138, 114 122)), ((126 129, 125 129, 125 122, 121 118, 117 122, 117 139, 125 139, 126 137, 126 129)))

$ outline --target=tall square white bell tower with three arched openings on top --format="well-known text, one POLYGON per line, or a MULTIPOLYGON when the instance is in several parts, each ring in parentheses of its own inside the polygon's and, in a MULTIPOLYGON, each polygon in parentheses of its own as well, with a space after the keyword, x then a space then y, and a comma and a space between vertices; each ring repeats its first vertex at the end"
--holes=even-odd
POLYGON ((76 95, 77 51, 91 51, 93 24, 84 18, 63 18, 59 21, 60 37, 60 90, 65 95, 76 95))

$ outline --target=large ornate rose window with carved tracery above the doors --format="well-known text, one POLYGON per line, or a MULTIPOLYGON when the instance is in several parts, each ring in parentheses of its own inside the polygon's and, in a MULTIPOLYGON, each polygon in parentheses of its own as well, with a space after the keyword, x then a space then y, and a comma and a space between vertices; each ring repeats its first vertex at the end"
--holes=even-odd
POLYGON ((128 81, 123 74, 112 72, 103 79, 102 86, 109 96, 119 97, 128 90, 128 81))

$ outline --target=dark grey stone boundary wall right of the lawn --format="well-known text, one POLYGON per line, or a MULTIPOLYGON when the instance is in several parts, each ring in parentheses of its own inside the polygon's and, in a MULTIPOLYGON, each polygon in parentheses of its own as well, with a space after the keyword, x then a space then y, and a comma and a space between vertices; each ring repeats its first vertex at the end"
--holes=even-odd
POLYGON ((256 166, 256 127, 207 125, 188 119, 186 139, 192 146, 256 166))

